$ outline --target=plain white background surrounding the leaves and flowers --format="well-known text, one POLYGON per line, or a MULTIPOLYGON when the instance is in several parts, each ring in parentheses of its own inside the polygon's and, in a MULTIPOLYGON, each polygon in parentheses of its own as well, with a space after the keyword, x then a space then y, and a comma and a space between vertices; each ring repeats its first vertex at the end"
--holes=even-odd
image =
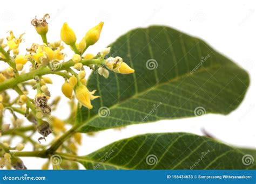
MULTIPOLYGON (((167 25, 200 37, 250 73, 250 88, 239 108, 227 116, 205 115, 160 121, 128 126, 122 131, 106 130, 97 133, 95 137, 84 136, 79 154, 84 155, 112 141, 142 133, 192 132, 203 135, 203 128, 225 143, 256 148, 255 5, 255 1, 1 1, 0 38, 6 37, 9 30, 17 35, 25 32, 21 53, 22 48, 25 51, 24 48, 33 42, 41 43, 30 20, 35 16, 41 18, 45 13, 51 16, 48 21, 49 41, 60 39, 60 29, 64 22, 68 22, 79 40, 88 29, 104 21, 100 40, 89 49, 92 53, 97 53, 131 29, 149 25, 167 25)), ((54 78, 53 86, 49 87, 52 96, 60 94, 62 83, 59 77, 54 78)), ((63 97, 55 115, 61 118, 68 115, 66 102, 63 97)), ((38 169, 46 161, 35 161, 35 158, 23 160, 30 169, 38 169)))

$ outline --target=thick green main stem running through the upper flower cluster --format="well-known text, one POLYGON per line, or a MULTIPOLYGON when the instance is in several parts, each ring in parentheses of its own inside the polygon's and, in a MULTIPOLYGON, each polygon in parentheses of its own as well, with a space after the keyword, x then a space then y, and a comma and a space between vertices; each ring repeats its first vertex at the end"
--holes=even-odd
MULTIPOLYGON (((86 66, 93 65, 93 64, 101 65, 104 62, 104 60, 88 59, 88 60, 82 60, 81 62, 83 63, 83 65, 86 65, 86 66)), ((42 75, 46 75, 46 74, 55 74, 58 71, 66 70, 67 68, 72 67, 74 65, 75 65, 75 62, 73 62, 72 60, 69 60, 67 62, 64 62, 62 64, 62 66, 60 66, 56 70, 51 70, 51 68, 45 67, 45 68, 42 68, 42 69, 36 69, 36 70, 33 70, 32 72, 19 75, 16 78, 8 79, 8 80, 6 80, 6 81, 4 81, 0 84, 0 92, 5 90, 5 89, 14 88, 19 83, 31 80, 36 75, 42 76, 42 75)))

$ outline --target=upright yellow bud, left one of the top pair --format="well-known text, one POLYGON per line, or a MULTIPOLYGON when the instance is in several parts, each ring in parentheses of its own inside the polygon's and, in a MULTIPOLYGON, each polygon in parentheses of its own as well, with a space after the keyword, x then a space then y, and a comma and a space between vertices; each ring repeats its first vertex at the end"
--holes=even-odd
POLYGON ((60 38, 66 45, 70 46, 75 45, 77 40, 76 34, 67 23, 64 23, 62 26, 62 30, 60 31, 60 38))

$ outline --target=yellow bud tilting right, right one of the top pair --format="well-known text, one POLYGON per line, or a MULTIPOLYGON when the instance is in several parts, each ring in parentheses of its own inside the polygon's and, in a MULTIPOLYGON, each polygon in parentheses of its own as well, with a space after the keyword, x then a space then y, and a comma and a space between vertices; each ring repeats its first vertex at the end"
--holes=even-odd
POLYGON ((102 31, 103 22, 100 22, 95 27, 92 27, 87 33, 85 34, 86 45, 90 46, 95 44, 99 40, 100 32, 102 31))

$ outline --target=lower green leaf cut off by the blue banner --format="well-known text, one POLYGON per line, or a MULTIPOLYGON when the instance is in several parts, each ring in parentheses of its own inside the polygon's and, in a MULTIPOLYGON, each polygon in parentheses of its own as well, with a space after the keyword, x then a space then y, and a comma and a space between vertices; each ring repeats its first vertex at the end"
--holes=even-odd
POLYGON ((86 169, 255 169, 244 155, 191 133, 153 133, 116 141, 77 161, 86 169))

